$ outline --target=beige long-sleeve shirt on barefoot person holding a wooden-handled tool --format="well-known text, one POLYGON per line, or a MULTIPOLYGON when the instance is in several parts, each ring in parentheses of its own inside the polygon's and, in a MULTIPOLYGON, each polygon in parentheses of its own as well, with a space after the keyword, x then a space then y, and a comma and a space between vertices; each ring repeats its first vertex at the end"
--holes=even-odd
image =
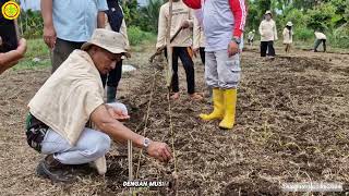
MULTIPOLYGON (((190 24, 189 28, 182 29, 178 36, 171 42, 172 47, 190 47, 193 45, 193 10, 188 8, 182 0, 178 2, 173 2, 172 4, 173 14, 171 22, 171 37, 176 34, 176 32, 182 26, 183 21, 188 21, 190 24)), ((166 40, 166 32, 169 20, 169 3, 165 3, 160 8, 159 13, 159 24, 158 24, 158 34, 157 34, 157 44, 156 48, 160 48, 165 46, 166 40)), ((168 40, 169 41, 169 40, 168 40)))

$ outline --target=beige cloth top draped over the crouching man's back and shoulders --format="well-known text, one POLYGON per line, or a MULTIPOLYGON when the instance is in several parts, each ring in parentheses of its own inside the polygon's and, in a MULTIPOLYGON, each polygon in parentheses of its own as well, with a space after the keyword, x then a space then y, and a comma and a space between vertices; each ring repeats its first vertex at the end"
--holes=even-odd
POLYGON ((74 50, 36 93, 31 113, 75 145, 93 111, 104 105, 100 75, 89 54, 74 50))

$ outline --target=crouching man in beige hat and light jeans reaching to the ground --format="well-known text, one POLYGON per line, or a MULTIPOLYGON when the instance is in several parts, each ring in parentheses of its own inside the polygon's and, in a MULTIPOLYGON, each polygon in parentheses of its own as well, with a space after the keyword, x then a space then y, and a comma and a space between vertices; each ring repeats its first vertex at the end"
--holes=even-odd
POLYGON ((120 33, 96 29, 82 50, 74 50, 31 100, 27 142, 47 155, 37 167, 38 175, 72 182, 74 177, 63 170, 64 166, 91 162, 99 174, 106 173, 110 138, 132 140, 151 157, 170 160, 165 143, 152 142, 119 122, 129 119, 124 107, 104 105, 100 74, 115 69, 124 52, 120 33), (87 122, 97 128, 86 127, 87 122))

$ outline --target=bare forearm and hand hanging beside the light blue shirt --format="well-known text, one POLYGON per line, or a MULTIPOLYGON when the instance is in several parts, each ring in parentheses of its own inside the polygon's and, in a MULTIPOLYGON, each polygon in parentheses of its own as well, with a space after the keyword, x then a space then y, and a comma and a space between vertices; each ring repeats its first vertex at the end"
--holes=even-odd
POLYGON ((53 26, 53 0, 41 0, 41 15, 44 20, 44 41, 45 44, 52 49, 56 44, 57 34, 53 26))

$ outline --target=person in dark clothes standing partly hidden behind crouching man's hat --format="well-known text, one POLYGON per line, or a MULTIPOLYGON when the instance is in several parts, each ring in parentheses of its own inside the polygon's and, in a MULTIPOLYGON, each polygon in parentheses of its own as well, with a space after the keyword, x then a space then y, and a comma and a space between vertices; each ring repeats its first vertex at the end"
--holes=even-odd
MULTIPOLYGON (((119 0, 107 0, 108 11, 106 11, 106 29, 121 33, 127 41, 125 49, 130 51, 130 41, 128 37, 127 24, 124 22, 123 11, 119 0)), ((130 58, 130 53, 125 56, 130 58)), ((107 85, 107 102, 116 102, 117 89, 122 76, 122 59, 107 75, 101 75, 103 86, 107 85)))

